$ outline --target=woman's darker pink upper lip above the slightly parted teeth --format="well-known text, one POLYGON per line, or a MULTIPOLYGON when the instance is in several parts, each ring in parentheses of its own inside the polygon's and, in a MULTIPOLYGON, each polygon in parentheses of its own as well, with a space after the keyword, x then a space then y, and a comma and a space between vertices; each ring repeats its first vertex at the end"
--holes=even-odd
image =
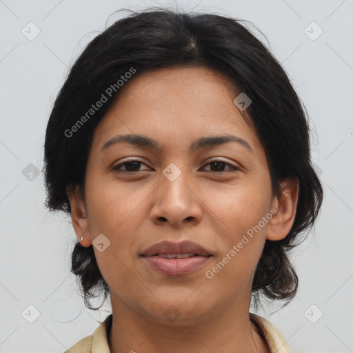
POLYGON ((201 245, 193 241, 181 241, 172 243, 171 241, 161 241, 150 248, 145 249, 141 256, 154 256, 157 254, 198 254, 200 256, 210 256, 210 252, 201 245))

